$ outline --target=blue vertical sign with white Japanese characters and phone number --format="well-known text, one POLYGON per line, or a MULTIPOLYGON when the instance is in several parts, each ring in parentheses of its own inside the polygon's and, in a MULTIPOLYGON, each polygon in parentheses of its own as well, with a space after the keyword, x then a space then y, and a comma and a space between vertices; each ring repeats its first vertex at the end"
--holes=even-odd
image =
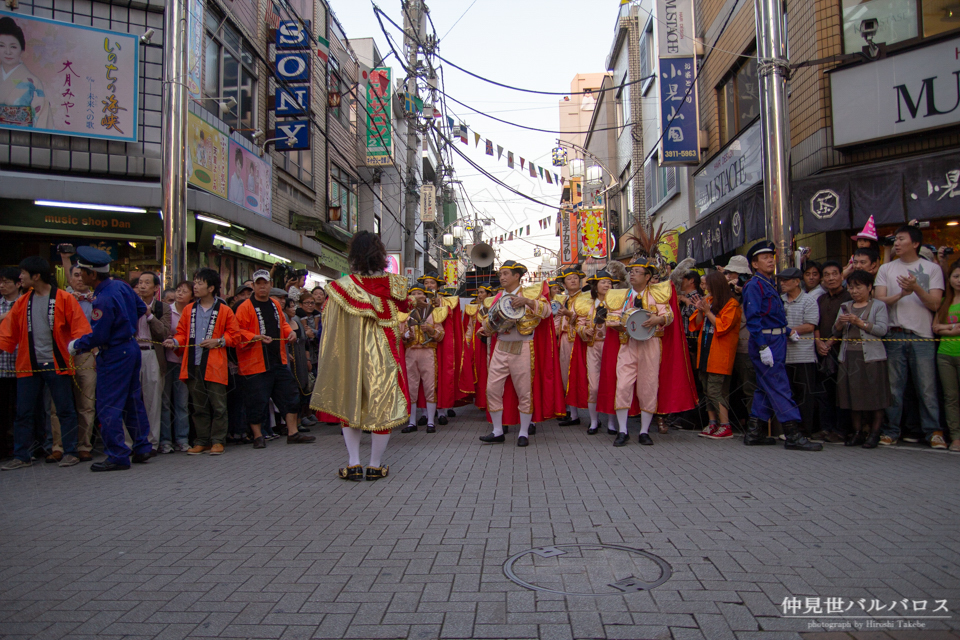
POLYGON ((660 59, 660 164, 700 164, 696 58, 660 59))

